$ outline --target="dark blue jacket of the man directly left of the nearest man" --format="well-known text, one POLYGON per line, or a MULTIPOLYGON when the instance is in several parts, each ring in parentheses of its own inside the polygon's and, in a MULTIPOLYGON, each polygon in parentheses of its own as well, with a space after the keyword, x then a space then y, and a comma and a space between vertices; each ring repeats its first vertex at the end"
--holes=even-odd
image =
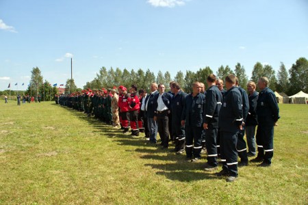
POLYGON ((205 96, 205 109, 203 122, 208 124, 209 128, 218 128, 218 117, 222 105, 222 94, 215 85, 207 89, 205 96))

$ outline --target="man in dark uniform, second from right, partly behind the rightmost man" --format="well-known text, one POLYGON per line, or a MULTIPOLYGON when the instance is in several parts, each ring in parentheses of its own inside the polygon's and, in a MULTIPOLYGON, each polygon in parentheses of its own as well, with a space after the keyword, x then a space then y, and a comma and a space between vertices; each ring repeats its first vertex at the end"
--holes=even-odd
POLYGON ((255 146, 255 128, 258 124, 257 120, 257 100, 258 93, 255 91, 256 89, 255 82, 249 81, 247 83, 248 90, 248 102, 249 102, 249 112, 246 118, 246 141, 248 146, 248 156, 255 156, 256 154, 256 146, 255 146))

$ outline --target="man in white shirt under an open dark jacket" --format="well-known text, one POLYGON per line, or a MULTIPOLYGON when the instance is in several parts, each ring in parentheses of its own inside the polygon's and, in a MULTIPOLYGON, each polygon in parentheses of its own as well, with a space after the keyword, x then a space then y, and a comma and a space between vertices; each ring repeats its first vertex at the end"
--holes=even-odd
POLYGON ((159 137, 162 141, 162 149, 167 149, 169 146, 169 118, 168 114, 170 113, 171 109, 171 100, 172 96, 165 92, 165 85, 159 84, 158 85, 158 92, 159 94, 155 96, 154 99, 154 107, 155 107, 155 114, 154 120, 157 121, 158 125, 158 133, 159 137))

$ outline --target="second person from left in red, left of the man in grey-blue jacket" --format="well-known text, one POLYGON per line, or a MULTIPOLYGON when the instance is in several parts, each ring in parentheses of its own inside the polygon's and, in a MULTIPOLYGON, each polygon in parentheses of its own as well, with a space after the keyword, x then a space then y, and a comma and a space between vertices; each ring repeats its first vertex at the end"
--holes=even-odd
POLYGON ((138 111, 140 108, 139 98, 137 96, 137 86, 131 85, 129 88, 130 96, 127 98, 129 105, 129 117, 131 122, 131 135, 139 136, 138 111))

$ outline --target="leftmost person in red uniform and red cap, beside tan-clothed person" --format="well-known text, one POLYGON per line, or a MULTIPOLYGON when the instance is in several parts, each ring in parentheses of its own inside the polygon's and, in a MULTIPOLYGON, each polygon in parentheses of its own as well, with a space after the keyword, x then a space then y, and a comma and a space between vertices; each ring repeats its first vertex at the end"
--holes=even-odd
POLYGON ((122 116, 122 126, 124 128, 123 133, 127 133, 129 131, 129 104, 128 104, 128 98, 129 95, 127 94, 127 88, 122 87, 123 95, 118 98, 118 105, 120 107, 121 116, 122 116))

